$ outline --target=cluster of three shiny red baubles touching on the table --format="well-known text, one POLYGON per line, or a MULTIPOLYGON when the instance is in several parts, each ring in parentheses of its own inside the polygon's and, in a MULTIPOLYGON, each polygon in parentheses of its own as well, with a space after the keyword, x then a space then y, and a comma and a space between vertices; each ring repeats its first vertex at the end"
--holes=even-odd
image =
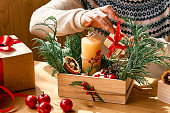
POLYGON ((50 113, 51 111, 51 105, 50 105, 50 97, 47 95, 47 94, 43 94, 40 95, 38 97, 38 99, 36 98, 36 96, 34 95, 29 95, 26 97, 25 99, 25 104, 33 109, 36 107, 36 104, 37 104, 37 101, 38 101, 38 108, 37 108, 37 111, 38 113, 50 113))

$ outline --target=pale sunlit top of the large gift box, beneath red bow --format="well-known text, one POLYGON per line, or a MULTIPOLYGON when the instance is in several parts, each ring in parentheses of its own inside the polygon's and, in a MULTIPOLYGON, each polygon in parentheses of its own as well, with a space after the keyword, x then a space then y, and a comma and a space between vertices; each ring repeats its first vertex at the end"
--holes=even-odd
MULTIPOLYGON (((15 35, 10 35, 10 37, 12 39, 18 39, 15 35)), ((18 55, 32 53, 32 51, 22 42, 13 44, 12 47, 14 48, 13 51, 9 51, 9 52, 0 51, 0 58, 8 58, 8 57, 14 57, 18 55)))

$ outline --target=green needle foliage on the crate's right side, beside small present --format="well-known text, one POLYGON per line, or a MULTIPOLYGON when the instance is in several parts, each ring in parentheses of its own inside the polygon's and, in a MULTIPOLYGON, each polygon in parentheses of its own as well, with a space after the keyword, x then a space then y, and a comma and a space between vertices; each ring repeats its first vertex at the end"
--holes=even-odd
POLYGON ((144 70, 147 68, 146 65, 157 63, 170 68, 170 57, 161 55, 165 53, 165 43, 157 42, 154 38, 149 37, 149 34, 146 32, 148 26, 143 27, 140 24, 136 24, 136 21, 133 23, 131 18, 123 17, 123 19, 131 29, 134 42, 128 39, 121 41, 127 47, 125 55, 122 57, 126 57, 128 61, 125 61, 124 64, 118 62, 121 67, 119 79, 126 80, 127 77, 130 77, 139 84, 146 85, 148 82, 144 75, 149 75, 149 72, 144 70))

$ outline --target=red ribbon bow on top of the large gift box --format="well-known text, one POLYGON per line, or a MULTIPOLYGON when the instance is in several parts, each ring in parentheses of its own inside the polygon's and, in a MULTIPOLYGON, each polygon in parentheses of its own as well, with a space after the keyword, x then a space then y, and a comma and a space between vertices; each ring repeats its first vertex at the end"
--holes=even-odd
POLYGON ((11 47, 13 44, 20 43, 19 39, 12 39, 10 36, 0 37, 0 51, 12 51, 11 47))

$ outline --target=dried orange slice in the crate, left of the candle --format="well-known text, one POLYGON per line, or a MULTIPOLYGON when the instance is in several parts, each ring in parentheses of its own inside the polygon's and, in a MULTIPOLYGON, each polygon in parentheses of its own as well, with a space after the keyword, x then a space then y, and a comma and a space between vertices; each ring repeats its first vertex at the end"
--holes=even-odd
POLYGON ((73 74, 78 74, 80 71, 79 64, 77 61, 70 56, 65 57, 65 64, 64 67, 73 74))

